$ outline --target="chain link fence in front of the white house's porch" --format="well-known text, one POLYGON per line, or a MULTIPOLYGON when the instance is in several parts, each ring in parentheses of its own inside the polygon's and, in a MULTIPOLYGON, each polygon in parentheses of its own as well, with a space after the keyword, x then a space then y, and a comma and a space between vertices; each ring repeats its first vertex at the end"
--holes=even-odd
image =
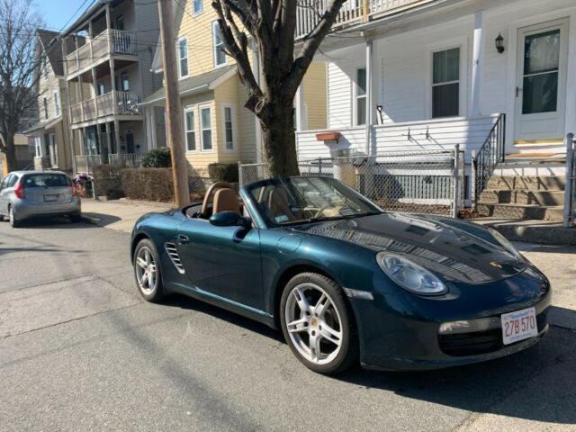
MULTIPOLYGON (((386 152, 375 156, 319 157, 299 161, 303 176, 340 180, 386 211, 456 217, 467 188, 464 151, 386 152)), ((270 177, 266 164, 238 164, 240 186, 270 177)))

